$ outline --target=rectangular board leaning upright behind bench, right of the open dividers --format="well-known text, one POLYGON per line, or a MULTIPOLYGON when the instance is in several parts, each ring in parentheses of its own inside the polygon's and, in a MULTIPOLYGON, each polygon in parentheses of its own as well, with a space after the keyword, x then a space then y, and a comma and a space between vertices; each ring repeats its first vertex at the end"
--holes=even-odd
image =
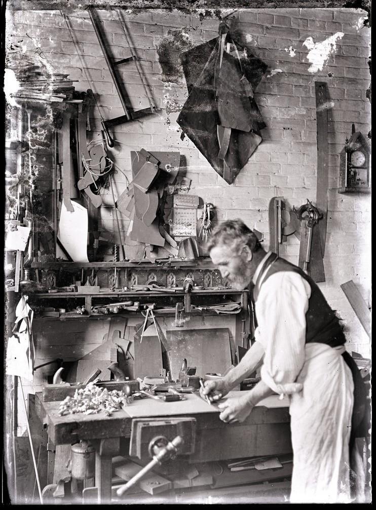
POLYGON ((166 331, 171 375, 176 380, 183 358, 196 374, 224 373, 231 365, 228 328, 166 331))

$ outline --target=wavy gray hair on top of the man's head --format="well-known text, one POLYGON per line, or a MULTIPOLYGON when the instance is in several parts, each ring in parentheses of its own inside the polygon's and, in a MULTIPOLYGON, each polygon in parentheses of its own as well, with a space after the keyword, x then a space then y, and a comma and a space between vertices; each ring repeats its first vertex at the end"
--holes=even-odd
POLYGON ((206 243, 206 250, 209 253, 212 248, 219 245, 232 246, 234 249, 247 245, 252 252, 261 246, 256 234, 239 218, 220 223, 206 243))

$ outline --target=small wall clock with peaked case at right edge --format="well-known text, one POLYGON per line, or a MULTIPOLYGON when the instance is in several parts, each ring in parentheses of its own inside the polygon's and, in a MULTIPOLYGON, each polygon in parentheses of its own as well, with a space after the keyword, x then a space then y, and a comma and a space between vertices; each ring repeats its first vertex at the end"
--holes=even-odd
POLYGON ((352 126, 352 135, 339 157, 340 187, 338 193, 371 191, 371 150, 360 131, 352 126))

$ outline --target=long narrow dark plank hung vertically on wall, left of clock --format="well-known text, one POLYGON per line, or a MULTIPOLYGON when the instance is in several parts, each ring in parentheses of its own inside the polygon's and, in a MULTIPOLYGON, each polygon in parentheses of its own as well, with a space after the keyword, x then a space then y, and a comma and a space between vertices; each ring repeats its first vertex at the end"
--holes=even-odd
POLYGON ((320 232, 321 255, 325 254, 325 239, 327 235, 328 216, 328 85, 326 82, 315 82, 316 94, 316 127, 317 127, 317 188, 316 207, 324 216, 318 222, 320 232))

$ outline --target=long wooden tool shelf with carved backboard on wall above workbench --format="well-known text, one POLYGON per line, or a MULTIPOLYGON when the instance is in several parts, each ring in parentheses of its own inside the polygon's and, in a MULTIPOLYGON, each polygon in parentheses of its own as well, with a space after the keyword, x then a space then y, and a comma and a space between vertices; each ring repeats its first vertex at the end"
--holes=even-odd
MULTIPOLYGON (((199 310, 197 307, 208 307, 213 304, 226 303, 226 302, 237 302, 240 304, 240 310, 238 313, 232 315, 231 320, 232 324, 235 326, 235 335, 233 342, 231 342, 231 351, 233 355, 233 359, 235 360, 235 353, 237 352, 237 346, 247 347, 247 339, 249 333, 252 335, 252 331, 249 331, 250 321, 249 316, 249 307, 248 307, 248 291, 238 291, 234 289, 227 289, 221 287, 222 279, 220 276, 213 274, 214 266, 211 264, 209 260, 200 260, 193 262, 183 262, 177 261, 171 262, 169 264, 164 265, 156 265, 156 264, 135 264, 130 262, 96 262, 96 263, 69 263, 69 262, 52 262, 48 264, 33 263, 33 269, 36 269, 40 272, 49 272, 54 271, 58 279, 64 277, 62 273, 71 273, 80 272, 83 269, 86 271, 90 271, 95 268, 98 273, 102 273, 102 276, 98 276, 98 284, 103 281, 106 273, 111 272, 113 274, 114 269, 117 268, 119 272, 121 272, 120 280, 122 285, 124 282, 128 282, 129 278, 132 276, 131 272, 139 273, 139 283, 141 285, 146 286, 146 278, 150 275, 151 272, 157 273, 158 275, 164 275, 167 278, 169 272, 172 271, 176 275, 176 282, 180 283, 182 278, 186 276, 189 272, 194 274, 195 282, 197 282, 198 286, 202 286, 205 281, 205 276, 208 273, 212 273, 212 281, 211 286, 204 286, 205 290, 195 290, 193 288, 190 292, 185 293, 182 290, 177 290, 176 292, 171 292, 172 289, 166 288, 166 292, 158 290, 155 292, 153 290, 143 291, 143 290, 120 290, 115 289, 111 290, 104 285, 100 285, 100 292, 92 293, 90 292, 90 288, 88 288, 88 293, 85 293, 85 289, 82 287, 80 292, 48 292, 48 287, 44 288, 42 291, 39 288, 30 289, 30 291, 25 291, 25 293, 29 297, 29 303, 31 307, 35 310, 35 318, 41 321, 46 319, 51 319, 51 317, 42 317, 38 314, 38 307, 53 307, 55 309, 64 308, 67 310, 66 313, 60 314, 59 317, 54 317, 52 320, 108 320, 111 317, 124 317, 124 318, 134 318, 141 317, 141 310, 143 310, 142 305, 146 303, 155 303, 155 309, 153 313, 156 318, 160 317, 174 317, 177 319, 176 324, 181 323, 181 327, 183 327, 183 317, 186 315, 190 315, 192 317, 208 317, 208 316, 217 316, 217 312, 213 309, 204 309, 199 310), (59 271, 60 270, 60 271, 59 271), (179 274, 182 274, 182 277, 179 277, 179 274), (201 280, 199 280, 199 276, 201 280), (102 278, 102 280, 101 280, 102 278), (216 287, 218 285, 218 288, 216 287), (117 314, 109 313, 103 314, 98 312, 92 312, 92 307, 99 307, 105 305, 111 305, 111 303, 123 302, 131 300, 133 302, 140 302, 140 311, 128 311, 120 309, 117 314), (77 306, 85 306, 86 312, 83 315, 79 315, 75 310, 77 306), (178 305, 178 307, 177 307, 178 305), (178 311, 177 311, 178 308, 178 311), (68 312, 68 310, 73 310, 68 312), (234 321, 234 322, 233 322, 234 321)), ((42 283, 41 275, 39 275, 40 282, 42 283)), ((160 276, 162 279, 162 276, 160 276)), ((166 281, 166 279, 165 279, 166 281)), ((44 280, 43 280, 44 282, 44 280)), ((207 282, 206 282, 207 283, 207 282)), ((180 288, 181 289, 181 288, 180 288)), ((229 316, 227 316, 229 317, 229 316)), ((178 326, 179 327, 179 326, 178 326)))

